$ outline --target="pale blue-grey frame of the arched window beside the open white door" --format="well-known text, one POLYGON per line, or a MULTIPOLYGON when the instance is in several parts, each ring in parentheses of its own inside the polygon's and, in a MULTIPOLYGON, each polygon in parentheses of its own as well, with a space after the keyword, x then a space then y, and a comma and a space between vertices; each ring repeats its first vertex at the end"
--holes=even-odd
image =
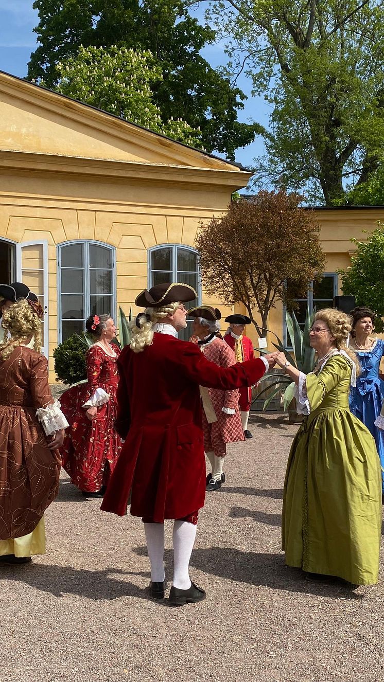
POLYGON ((116 320, 116 311, 117 311, 117 303, 116 303, 116 248, 115 246, 112 246, 111 244, 107 244, 105 241, 98 241, 96 239, 71 239, 70 241, 61 241, 61 243, 57 244, 57 336, 58 336, 58 342, 61 343, 62 339, 62 333, 61 333, 61 248, 64 246, 72 246, 72 244, 81 244, 83 246, 83 253, 84 253, 84 263, 82 268, 78 268, 84 271, 84 301, 85 301, 85 310, 84 310, 84 315, 85 315, 85 320, 90 315, 90 296, 91 294, 89 293, 89 245, 95 245, 95 246, 102 246, 106 249, 110 250, 110 253, 112 255, 111 261, 112 261, 112 303, 111 303, 111 310, 110 314, 113 316, 113 318, 116 320), (87 248, 85 248, 87 247, 87 248))

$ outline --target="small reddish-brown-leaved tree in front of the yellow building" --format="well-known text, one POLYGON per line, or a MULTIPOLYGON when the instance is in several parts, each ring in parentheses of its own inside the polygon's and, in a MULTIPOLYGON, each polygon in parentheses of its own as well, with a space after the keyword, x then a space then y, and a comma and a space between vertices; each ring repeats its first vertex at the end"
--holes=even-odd
POLYGON ((306 297, 308 282, 321 278, 325 268, 320 224, 299 207, 301 200, 298 194, 263 190, 231 203, 225 216, 202 225, 196 237, 207 293, 228 305, 243 303, 260 336, 276 302, 292 305, 293 298, 306 297))

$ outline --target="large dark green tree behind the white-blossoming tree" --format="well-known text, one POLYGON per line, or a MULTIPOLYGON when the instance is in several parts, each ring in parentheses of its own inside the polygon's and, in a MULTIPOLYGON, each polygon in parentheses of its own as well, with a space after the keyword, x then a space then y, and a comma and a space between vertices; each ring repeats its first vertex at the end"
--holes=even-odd
MULTIPOLYGON (((35 0, 38 48, 31 55, 28 78, 54 87, 57 64, 75 57, 80 45, 149 50, 162 78, 153 83, 153 104, 163 123, 183 119, 201 130, 207 151, 229 159, 254 140, 261 127, 239 123, 246 95, 223 70, 213 69, 200 52, 216 40, 208 25, 190 16, 190 0, 35 0)), ((177 127, 177 126, 176 126, 177 127)))

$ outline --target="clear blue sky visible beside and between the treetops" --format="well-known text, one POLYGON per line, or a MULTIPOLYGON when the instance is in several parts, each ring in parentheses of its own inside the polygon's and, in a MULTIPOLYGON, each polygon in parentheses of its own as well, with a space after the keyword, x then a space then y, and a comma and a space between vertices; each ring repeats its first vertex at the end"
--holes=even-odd
MULTIPOLYGON (((27 63, 36 47, 33 28, 38 25, 38 13, 32 5, 33 0, 0 0, 0 70, 20 78, 27 74, 27 63)), ((199 9, 195 14, 201 17, 203 10, 199 9)), ((226 61, 222 44, 208 46, 203 55, 213 67, 226 61)), ((267 104, 263 98, 252 98, 250 80, 243 76, 238 85, 248 95, 245 108, 239 113, 239 121, 249 123, 256 120, 267 125, 267 104)), ((263 142, 257 137, 252 145, 237 150, 236 161, 243 166, 252 166, 254 158, 262 153, 263 142)))

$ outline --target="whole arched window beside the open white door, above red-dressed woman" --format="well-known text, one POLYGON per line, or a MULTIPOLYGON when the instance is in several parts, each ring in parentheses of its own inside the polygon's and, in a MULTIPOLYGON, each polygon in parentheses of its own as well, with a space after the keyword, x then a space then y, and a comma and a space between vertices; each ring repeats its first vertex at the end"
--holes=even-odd
POLYGON ((59 342, 85 329, 89 315, 115 317, 115 248, 100 241, 58 247, 59 342))

